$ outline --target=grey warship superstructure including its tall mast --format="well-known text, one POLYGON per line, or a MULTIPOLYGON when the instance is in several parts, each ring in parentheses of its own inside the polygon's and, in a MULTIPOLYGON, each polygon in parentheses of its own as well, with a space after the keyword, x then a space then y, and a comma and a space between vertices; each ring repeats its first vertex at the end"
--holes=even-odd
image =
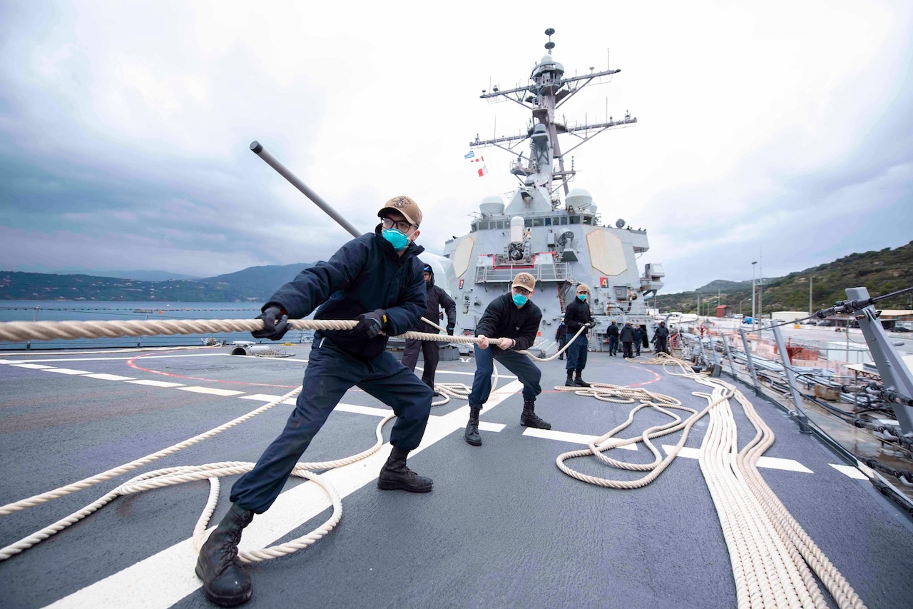
POLYGON ((559 122, 555 112, 584 86, 621 70, 591 70, 566 78, 563 66, 551 55, 554 30, 545 34, 550 38, 545 44, 548 54, 536 64, 525 87, 494 87, 481 95, 517 102, 530 110, 531 119, 525 134, 491 140, 477 136, 469 143, 472 148, 494 146, 517 155, 510 172, 518 177, 519 187, 507 203, 497 196, 484 198, 469 234, 446 241, 444 255, 456 272, 458 327, 472 332, 488 303, 509 291, 514 275, 526 271, 536 278, 533 300, 543 315, 540 337, 554 337, 579 283, 591 289, 596 318, 592 348, 604 342, 612 320, 646 326, 652 337, 656 323, 647 314, 644 297, 663 286, 664 272, 657 263, 646 264, 643 274, 637 270, 637 258, 649 250, 646 231, 626 226, 623 219, 603 226, 593 196, 570 187, 575 171, 565 164, 569 152, 596 134, 633 126, 637 119, 625 112, 619 121, 610 117, 604 123, 572 125, 559 122), (562 134, 575 138, 566 151, 561 149, 562 134), (529 151, 524 155, 520 146, 526 141, 529 151))

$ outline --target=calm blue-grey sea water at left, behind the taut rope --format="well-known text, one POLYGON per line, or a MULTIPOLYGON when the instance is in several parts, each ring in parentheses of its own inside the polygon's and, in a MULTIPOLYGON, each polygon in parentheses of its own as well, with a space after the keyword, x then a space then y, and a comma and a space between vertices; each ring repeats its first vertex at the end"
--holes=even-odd
MULTIPOLYGON (((110 321, 129 319, 253 319, 262 303, 131 303, 67 300, 0 300, 0 322, 8 321, 110 321)), ((285 340, 292 343, 310 340, 313 332, 291 330, 285 340)), ((173 347, 202 345, 207 338, 217 340, 255 340, 247 332, 173 335, 158 337, 80 338, 0 342, 2 350, 90 348, 90 347, 173 347)))

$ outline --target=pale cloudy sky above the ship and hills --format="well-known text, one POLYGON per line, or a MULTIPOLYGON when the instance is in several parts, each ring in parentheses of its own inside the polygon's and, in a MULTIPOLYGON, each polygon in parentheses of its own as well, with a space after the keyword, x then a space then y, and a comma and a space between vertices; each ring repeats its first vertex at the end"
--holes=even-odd
POLYGON ((484 178, 463 155, 525 128, 478 96, 526 83, 546 27, 567 74, 622 69, 561 110, 638 119, 574 151, 572 186, 648 231, 666 293, 913 239, 913 3, 430 7, 0 0, 0 270, 326 259, 348 233, 253 140, 361 230, 415 198, 440 253, 516 184, 512 155, 484 178))

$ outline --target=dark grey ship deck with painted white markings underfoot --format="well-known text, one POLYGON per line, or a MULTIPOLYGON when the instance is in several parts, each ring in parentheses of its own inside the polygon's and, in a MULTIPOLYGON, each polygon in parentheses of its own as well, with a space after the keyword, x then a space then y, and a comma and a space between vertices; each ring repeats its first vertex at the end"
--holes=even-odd
MULTIPOLYGON (((294 389, 308 347, 291 350, 295 358, 229 357, 226 348, 0 356, 0 504, 151 454, 294 389)), ((551 390, 563 382, 563 364, 541 366, 548 389, 537 412, 551 422, 551 433, 519 425, 522 399, 511 377, 501 377, 501 393, 489 401, 497 403, 482 413, 479 448, 463 441, 465 401, 436 407, 425 442, 409 459, 417 472, 435 479, 430 494, 378 490, 374 481, 385 452, 333 472, 343 496, 340 525, 308 549, 249 567, 255 593, 246 606, 735 606, 729 552, 697 459, 679 456, 638 490, 587 485, 555 466, 558 454, 582 447, 581 436, 571 434, 605 433, 631 408, 551 390)), ((471 360, 441 362, 437 379, 469 384, 473 369, 471 360)), ((701 390, 692 381, 603 353, 590 354, 584 377, 642 385, 698 410, 706 405, 691 395, 701 390)), ((792 516, 867 606, 913 604, 909 518, 823 443, 800 434, 782 410, 750 399, 777 438, 761 475, 792 516)), ((370 409, 386 407, 357 390, 343 404, 304 459, 337 459, 374 443, 380 417, 370 409)), ((0 544, 67 516, 143 471, 256 461, 288 411, 279 405, 130 474, 0 517, 0 544)), ((735 416, 742 445, 753 428, 741 411, 735 416)), ((657 422, 665 420, 641 412, 624 436, 657 422)), ((686 446, 697 449, 707 426, 706 418, 698 422, 686 446)), ((678 437, 657 443, 672 445, 678 437)), ((641 463, 652 459, 643 445, 636 453, 615 453, 641 463)), ((608 471, 592 458, 572 465, 606 477, 641 475, 608 471)), ((225 513, 234 479, 223 480, 215 518, 225 513)), ((207 492, 200 481, 119 497, 0 562, 0 606, 208 606, 189 542, 207 492)), ((293 478, 274 508, 255 518, 242 549, 315 528, 330 513, 323 497, 312 483, 293 478)))

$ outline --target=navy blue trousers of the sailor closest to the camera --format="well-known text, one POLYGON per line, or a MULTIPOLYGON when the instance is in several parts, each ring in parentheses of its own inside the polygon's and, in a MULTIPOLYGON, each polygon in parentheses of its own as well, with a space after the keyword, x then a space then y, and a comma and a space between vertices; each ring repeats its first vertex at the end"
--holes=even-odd
POLYGON ((352 386, 394 409, 391 444, 411 451, 421 443, 431 412, 431 388, 386 351, 372 359, 353 358, 329 338, 323 339, 310 349, 302 390, 285 429, 269 444, 254 469, 232 486, 232 502, 257 514, 267 511, 301 454, 352 386))

